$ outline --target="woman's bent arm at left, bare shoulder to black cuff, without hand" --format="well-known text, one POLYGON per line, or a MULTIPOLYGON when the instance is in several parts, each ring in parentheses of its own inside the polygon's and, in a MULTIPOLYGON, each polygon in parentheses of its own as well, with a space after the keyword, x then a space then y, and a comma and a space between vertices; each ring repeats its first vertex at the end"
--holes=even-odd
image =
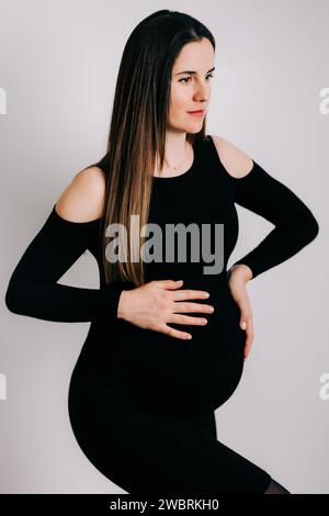
POLYGON ((11 312, 71 323, 117 317, 122 289, 57 283, 98 237, 103 191, 100 170, 93 167, 76 176, 61 193, 10 278, 5 304, 11 312))

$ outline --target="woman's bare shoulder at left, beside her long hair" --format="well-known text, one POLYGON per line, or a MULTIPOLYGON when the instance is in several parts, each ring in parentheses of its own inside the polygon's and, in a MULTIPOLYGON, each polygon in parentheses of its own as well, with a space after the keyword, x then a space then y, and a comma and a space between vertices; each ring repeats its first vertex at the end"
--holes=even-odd
POLYGON ((59 216, 71 222, 90 222, 103 216, 105 177, 100 167, 78 172, 56 202, 59 216))

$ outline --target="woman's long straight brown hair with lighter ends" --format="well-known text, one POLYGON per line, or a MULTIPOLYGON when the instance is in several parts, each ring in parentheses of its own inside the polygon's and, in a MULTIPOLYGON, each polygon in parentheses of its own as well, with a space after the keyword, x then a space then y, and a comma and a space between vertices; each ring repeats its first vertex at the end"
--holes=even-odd
MULTIPOLYGON (((145 282, 140 255, 145 237, 139 228, 148 222, 155 167, 163 167, 172 67, 186 43, 203 37, 215 51, 215 40, 201 22, 181 12, 160 10, 144 19, 125 45, 106 150, 102 259, 107 284, 124 281, 139 287, 145 282), (131 227, 131 215, 139 215, 139 228, 131 227), (128 235, 128 255, 114 262, 105 253, 104 228, 110 224, 121 224, 128 235), (139 260, 133 261, 132 256, 139 260)), ((205 119, 202 130, 188 133, 186 139, 194 145, 196 138, 204 137, 205 119)))

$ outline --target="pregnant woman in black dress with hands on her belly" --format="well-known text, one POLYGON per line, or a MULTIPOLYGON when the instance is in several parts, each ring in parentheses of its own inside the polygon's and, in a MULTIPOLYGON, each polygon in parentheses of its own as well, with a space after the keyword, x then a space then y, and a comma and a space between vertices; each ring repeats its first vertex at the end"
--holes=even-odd
POLYGON ((253 339, 247 282, 298 253, 318 224, 261 165, 206 134, 214 52, 211 32, 183 13, 136 26, 106 153, 63 191, 5 295, 16 314, 91 323, 70 422, 87 458, 128 493, 288 493, 217 439, 214 411, 253 339), (236 203, 274 228, 227 270, 236 203), (100 289, 58 283, 87 249, 100 289))

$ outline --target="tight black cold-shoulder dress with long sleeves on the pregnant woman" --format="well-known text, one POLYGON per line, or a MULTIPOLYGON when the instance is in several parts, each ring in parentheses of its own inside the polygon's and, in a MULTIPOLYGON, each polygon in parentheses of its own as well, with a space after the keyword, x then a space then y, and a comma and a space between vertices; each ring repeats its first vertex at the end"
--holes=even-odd
MULTIPOLYGON (((104 170, 107 158, 98 164, 104 170)), ((191 340, 117 318, 120 294, 134 285, 105 283, 102 218, 69 222, 54 205, 10 279, 5 302, 11 312, 91 323, 70 379, 69 417, 87 458, 127 493, 263 493, 271 482, 265 470, 217 440, 216 433, 214 411, 232 395, 243 370, 246 332, 239 325, 240 311, 228 288, 227 271, 238 238, 236 203, 274 225, 235 262, 249 266, 252 279, 295 255, 318 234, 310 210, 259 164, 253 161, 243 178, 232 178, 212 137, 196 138, 194 161, 186 172, 152 178, 148 222, 158 224, 162 235, 167 224, 208 227, 214 243, 222 225, 223 267, 209 272, 215 260, 209 263, 202 254, 201 238, 198 260, 192 259, 188 245, 183 260, 175 256, 172 261, 145 263, 146 281, 183 279, 182 289, 211 293, 205 301, 191 301, 212 304, 213 314, 189 314, 207 317, 207 325, 170 324, 191 333, 191 340), (99 266, 100 289, 58 283, 86 249, 99 266)), ((219 254, 215 245, 212 251, 219 254)))

